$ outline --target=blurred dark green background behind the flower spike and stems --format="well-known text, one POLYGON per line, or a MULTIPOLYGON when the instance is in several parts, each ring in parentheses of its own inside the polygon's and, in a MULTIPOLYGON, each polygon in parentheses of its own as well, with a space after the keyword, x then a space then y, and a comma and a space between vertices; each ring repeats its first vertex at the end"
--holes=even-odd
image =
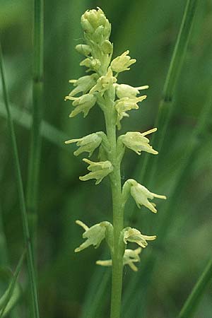
MULTIPOLYGON (((119 76, 119 83, 150 86, 148 99, 139 110, 131 111, 129 119, 123 120, 123 134, 146 131, 154 125, 185 4, 185 0, 45 1, 45 122, 37 229, 40 317, 109 317, 110 269, 95 265, 95 260, 106 258, 106 245, 102 244, 98 250, 90 247, 79 254, 73 252, 82 242, 76 219, 90 226, 112 218, 108 180, 98 186, 92 181, 80 182, 78 176, 86 173, 83 157, 73 156, 75 146, 64 146, 66 139, 104 129, 98 107, 93 107, 86 119, 81 115, 69 119, 70 105, 64 102, 64 96, 71 90, 69 79, 78 78, 85 71, 78 66, 82 57, 74 49, 82 42, 81 14, 87 8, 100 6, 112 23, 114 57, 129 49, 131 57, 137 59, 131 71, 119 76)), ((1 0, 0 27, 6 83, 26 186, 32 107, 33 1, 1 0)), ((136 208, 131 214, 135 208, 133 201, 125 211, 127 226, 136 225, 147 235, 158 232, 159 235, 143 252, 138 273, 124 269, 123 318, 176 317, 212 255, 211 30, 212 2, 199 1, 163 149, 153 158, 158 160, 158 169, 151 190, 166 194, 169 202, 158 202, 157 215, 146 208, 136 208), (201 133, 194 136, 201 111, 210 102, 201 133), (193 143, 195 151, 187 162, 185 154, 193 143)), ((142 163, 143 155, 126 151, 123 182, 129 177, 141 182, 138 172, 142 163)), ((23 230, 2 93, 0 189, 0 265, 14 269, 23 250, 23 230)), ((20 284, 23 295, 16 307, 16 317, 30 317, 25 270, 20 284)), ((0 292, 3 293, 1 284, 0 292)), ((212 317, 211 287, 194 317, 212 317)))

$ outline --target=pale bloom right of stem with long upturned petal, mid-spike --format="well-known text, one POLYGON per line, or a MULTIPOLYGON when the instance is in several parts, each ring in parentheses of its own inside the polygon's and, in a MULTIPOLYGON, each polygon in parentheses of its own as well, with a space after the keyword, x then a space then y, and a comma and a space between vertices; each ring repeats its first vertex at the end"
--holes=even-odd
POLYGON ((135 151, 138 155, 141 155, 141 151, 157 155, 158 151, 155 151, 153 147, 150 146, 148 138, 144 137, 154 131, 157 131, 157 128, 145 131, 142 134, 137 131, 129 131, 125 135, 119 136, 119 141, 122 141, 124 146, 135 151))

